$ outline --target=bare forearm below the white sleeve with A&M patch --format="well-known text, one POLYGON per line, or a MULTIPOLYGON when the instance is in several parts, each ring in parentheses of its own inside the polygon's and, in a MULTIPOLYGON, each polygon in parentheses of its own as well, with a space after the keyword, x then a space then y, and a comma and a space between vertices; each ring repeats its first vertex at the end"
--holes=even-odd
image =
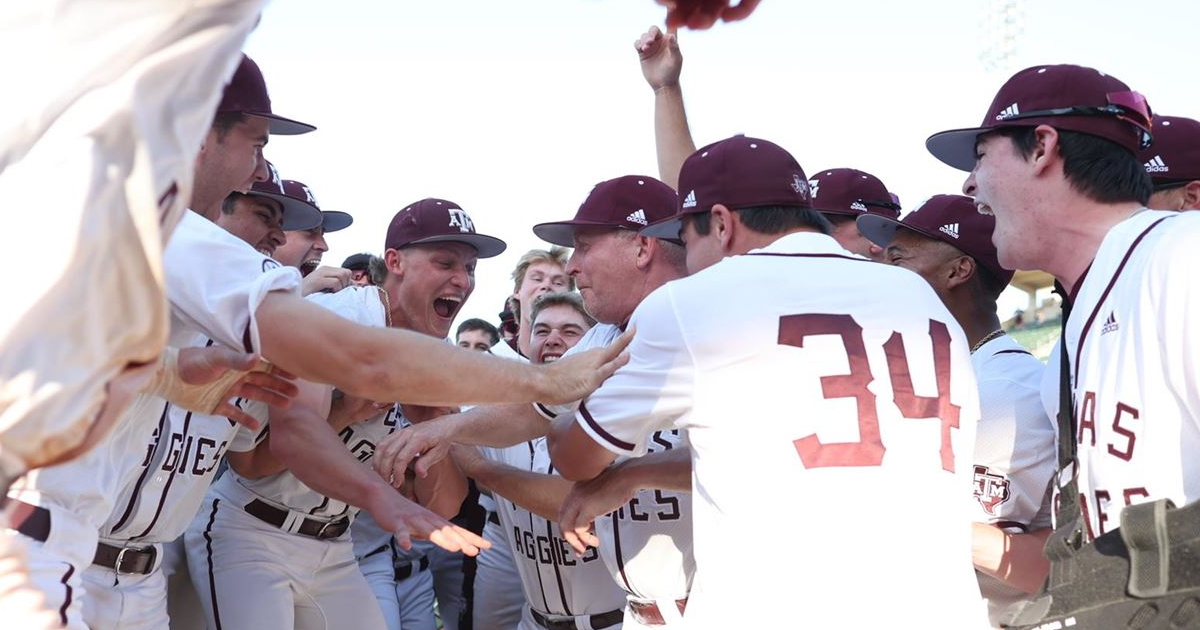
POLYGON ((995 526, 972 523, 974 566, 1010 587, 1037 593, 1050 572, 1050 560, 1043 554, 1050 532, 1010 534, 995 526))

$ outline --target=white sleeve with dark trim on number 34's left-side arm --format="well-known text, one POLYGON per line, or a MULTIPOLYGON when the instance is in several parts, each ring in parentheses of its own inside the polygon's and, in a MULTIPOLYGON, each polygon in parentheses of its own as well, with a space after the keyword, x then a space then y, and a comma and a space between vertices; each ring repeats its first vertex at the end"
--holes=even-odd
POLYGON ((629 364, 580 403, 575 421, 610 451, 640 457, 650 434, 676 428, 691 409, 696 368, 670 286, 642 300, 630 325, 629 364))

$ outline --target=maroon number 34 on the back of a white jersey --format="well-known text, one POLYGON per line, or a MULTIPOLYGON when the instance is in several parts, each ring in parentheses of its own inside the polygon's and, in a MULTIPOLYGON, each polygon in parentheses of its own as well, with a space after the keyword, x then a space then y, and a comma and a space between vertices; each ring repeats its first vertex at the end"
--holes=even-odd
MULTIPOLYGON (((848 314, 793 314, 779 318, 779 343, 804 347, 804 338, 816 335, 841 337, 850 358, 850 373, 821 377, 821 391, 826 398, 854 398, 858 406, 858 442, 824 444, 816 434, 796 440, 796 451, 805 468, 826 466, 880 466, 887 446, 880 438, 880 415, 875 407, 875 394, 868 385, 875 380, 871 365, 866 360, 863 326, 848 314)), ((941 419, 942 468, 954 472, 954 448, 950 430, 959 426, 959 406, 950 402, 950 332, 942 322, 929 320, 929 336, 934 347, 934 370, 937 377, 937 396, 918 396, 912 389, 908 356, 904 337, 893 332, 883 344, 892 377, 894 401, 900 413, 908 419, 941 419)))

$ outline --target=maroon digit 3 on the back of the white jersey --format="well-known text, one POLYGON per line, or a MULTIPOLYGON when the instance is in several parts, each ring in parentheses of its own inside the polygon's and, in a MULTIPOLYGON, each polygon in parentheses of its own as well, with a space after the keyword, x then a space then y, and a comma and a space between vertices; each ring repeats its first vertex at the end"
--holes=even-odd
POLYGON ((858 442, 824 444, 815 433, 796 440, 805 468, 826 466, 878 466, 887 450, 880 438, 875 394, 866 389, 875 377, 866 360, 863 326, 848 314, 794 314, 779 318, 779 343, 804 347, 804 337, 838 335, 846 348, 850 373, 821 377, 826 400, 854 398, 858 406, 858 442))

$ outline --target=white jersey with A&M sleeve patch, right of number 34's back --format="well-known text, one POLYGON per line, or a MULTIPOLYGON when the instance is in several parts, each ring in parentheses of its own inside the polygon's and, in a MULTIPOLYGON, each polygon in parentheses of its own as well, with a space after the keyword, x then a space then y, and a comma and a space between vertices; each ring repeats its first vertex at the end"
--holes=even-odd
MULTIPOLYGON (((979 431, 974 449, 974 520, 1008 532, 1050 527, 1050 478, 1057 466, 1055 425, 1042 407, 1038 361, 1013 337, 983 344, 971 355, 979 383, 979 431)), ((976 572, 998 628, 1030 598, 983 572, 976 572)))

